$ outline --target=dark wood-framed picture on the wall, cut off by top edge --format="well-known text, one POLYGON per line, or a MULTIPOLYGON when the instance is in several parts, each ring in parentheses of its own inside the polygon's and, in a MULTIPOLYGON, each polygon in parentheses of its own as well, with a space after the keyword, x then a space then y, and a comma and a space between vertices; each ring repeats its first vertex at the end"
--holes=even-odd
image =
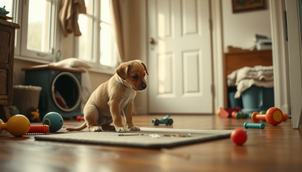
POLYGON ((232 0, 233 13, 266 9, 266 0, 232 0))

